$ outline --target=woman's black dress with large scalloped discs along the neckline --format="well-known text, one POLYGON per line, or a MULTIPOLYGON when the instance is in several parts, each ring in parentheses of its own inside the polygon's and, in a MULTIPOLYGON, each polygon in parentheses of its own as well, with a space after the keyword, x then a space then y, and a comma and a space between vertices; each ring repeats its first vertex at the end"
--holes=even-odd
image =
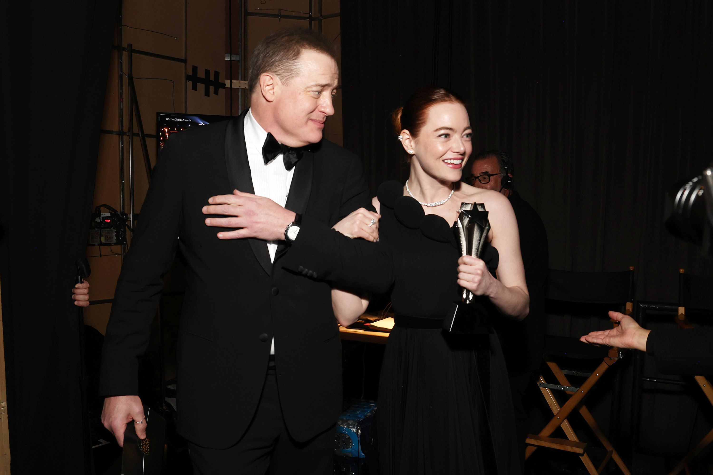
POLYGON ((445 219, 424 215, 402 190, 399 182, 386 182, 378 194, 396 313, 379 382, 381 474, 519 474, 498 336, 441 330, 460 298, 455 236, 445 219))

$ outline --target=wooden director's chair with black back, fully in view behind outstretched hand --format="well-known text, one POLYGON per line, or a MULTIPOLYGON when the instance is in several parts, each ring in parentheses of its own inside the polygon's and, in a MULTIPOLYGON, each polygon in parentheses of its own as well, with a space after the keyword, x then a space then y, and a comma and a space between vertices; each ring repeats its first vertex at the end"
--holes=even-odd
MULTIPOLYGON (((608 310, 620 309, 622 313, 630 315, 634 308, 634 292, 633 267, 630 267, 629 271, 622 272, 569 272, 550 269, 547 292, 548 313, 555 308, 555 313, 581 315, 581 310, 588 309, 587 316, 594 314, 598 316, 608 308, 608 310)), ((611 321, 613 322, 613 320, 611 321)), ((617 322, 613 323, 615 327, 618 325, 617 322)), ((557 384, 548 383, 544 375, 540 375, 538 387, 554 415, 539 434, 528 434, 525 459, 528 459, 538 447, 548 447, 578 454, 590 474, 600 474, 607 462, 613 459, 624 474, 630 475, 621 456, 612 447, 589 409, 583 404, 584 398, 595 383, 600 380, 610 366, 620 360, 622 352, 619 348, 588 345, 580 342, 579 338, 545 335, 543 353, 545 362, 555 376, 557 384), (566 360, 569 364, 579 361, 580 365, 578 366, 582 365, 583 360, 589 360, 590 367, 597 361, 600 363, 591 372, 563 370, 558 364, 560 360, 566 360), (582 384, 575 386, 570 382, 568 376, 584 377, 585 380, 582 384), (554 391, 565 392, 569 396, 568 400, 564 404, 560 404, 554 391), (604 460, 598 467, 595 467, 587 453, 587 444, 578 439, 570 423, 570 414, 575 411, 580 413, 607 451, 604 460), (551 437, 558 428, 563 429, 566 439, 551 437)), ((612 432, 614 432, 613 427, 618 424, 619 388, 620 378, 617 378, 612 395, 612 432)))

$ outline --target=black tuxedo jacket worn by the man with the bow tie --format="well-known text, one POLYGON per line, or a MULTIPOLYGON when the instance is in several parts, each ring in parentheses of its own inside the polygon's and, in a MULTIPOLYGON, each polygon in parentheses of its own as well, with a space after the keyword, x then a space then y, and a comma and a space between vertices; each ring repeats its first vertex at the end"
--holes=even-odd
MULTIPOLYGON (((270 263, 265 241, 223 241, 219 228, 205 225, 208 198, 253 192, 244 119, 245 112, 191 127, 166 142, 118 279, 101 365, 101 395, 138 394, 138 358, 148 346, 161 277, 178 248, 187 273, 178 330, 178 432, 215 449, 235 444, 250 424, 272 338, 280 404, 294 439, 330 427, 342 406, 329 284, 282 268, 286 244, 270 263)), ((287 209, 331 226, 367 206, 356 155, 328 140, 305 150, 287 209)))

